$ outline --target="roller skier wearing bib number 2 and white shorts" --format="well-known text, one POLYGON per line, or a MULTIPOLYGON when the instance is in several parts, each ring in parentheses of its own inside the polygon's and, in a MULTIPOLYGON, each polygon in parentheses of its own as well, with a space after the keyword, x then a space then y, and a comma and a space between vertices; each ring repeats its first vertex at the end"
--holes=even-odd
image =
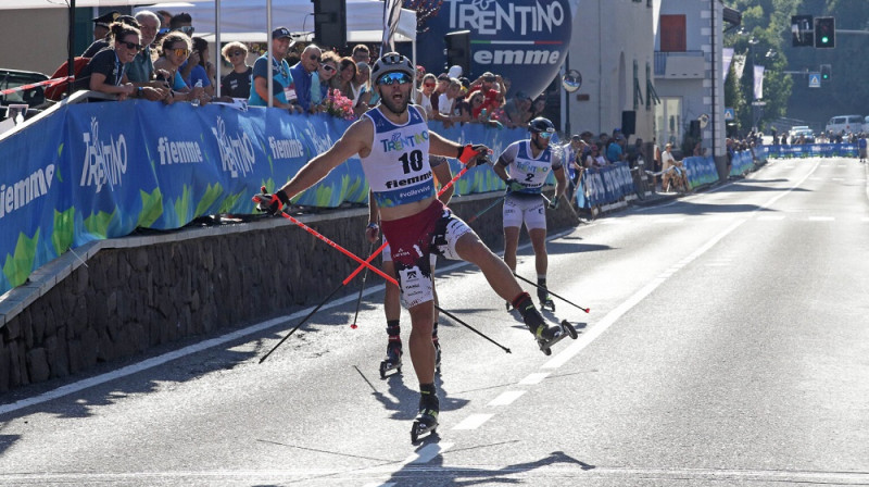
MULTIPOLYGON (((546 292, 546 212, 543 185, 550 173, 555 175, 555 195, 549 208, 558 208, 558 200, 567 189, 561 151, 550 147, 550 139, 555 134, 555 125, 542 116, 528 124, 531 137, 517 140, 498 158, 494 170, 507 185, 502 210, 504 220, 504 262, 512 272, 516 272, 516 249, 519 245, 519 233, 522 224, 528 228, 531 247, 534 249, 534 267, 537 270, 538 290, 541 309, 555 311, 549 292, 546 292)), ((509 310, 511 303, 507 303, 509 310)))

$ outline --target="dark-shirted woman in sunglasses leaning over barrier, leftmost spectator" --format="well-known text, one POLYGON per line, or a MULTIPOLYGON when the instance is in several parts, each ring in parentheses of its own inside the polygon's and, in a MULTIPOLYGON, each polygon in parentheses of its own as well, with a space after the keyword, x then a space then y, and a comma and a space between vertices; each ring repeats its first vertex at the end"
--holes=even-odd
POLYGON ((89 89, 116 95, 118 100, 133 96, 137 89, 126 78, 124 64, 141 49, 139 29, 115 22, 109 26, 110 47, 90 59, 75 80, 75 89, 89 89))

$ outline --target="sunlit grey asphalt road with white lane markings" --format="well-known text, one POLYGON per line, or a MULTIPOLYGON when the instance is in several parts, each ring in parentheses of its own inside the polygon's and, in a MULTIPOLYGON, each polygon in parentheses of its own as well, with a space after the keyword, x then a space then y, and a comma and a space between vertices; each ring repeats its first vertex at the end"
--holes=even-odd
POLYGON ((441 305, 512 353, 442 320, 418 445, 410 360, 378 375, 371 276, 358 329, 344 300, 263 364, 298 317, 2 398, 0 486, 869 485, 865 164, 772 161, 549 251, 551 289, 591 308, 556 301, 581 333, 549 358, 479 272, 440 264, 441 305))

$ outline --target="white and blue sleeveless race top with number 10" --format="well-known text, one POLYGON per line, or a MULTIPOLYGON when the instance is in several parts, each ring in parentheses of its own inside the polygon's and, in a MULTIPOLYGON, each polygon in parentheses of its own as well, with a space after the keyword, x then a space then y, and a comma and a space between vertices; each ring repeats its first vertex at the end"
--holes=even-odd
POLYGON ((434 196, 428 162, 428 125, 414 105, 408 121, 395 125, 374 108, 364 116, 374 122, 371 153, 361 158, 362 170, 380 208, 421 201, 434 196))

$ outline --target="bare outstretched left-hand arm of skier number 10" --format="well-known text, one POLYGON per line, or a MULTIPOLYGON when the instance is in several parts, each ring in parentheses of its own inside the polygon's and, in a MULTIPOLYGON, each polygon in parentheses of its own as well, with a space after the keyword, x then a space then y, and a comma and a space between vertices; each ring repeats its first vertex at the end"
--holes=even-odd
POLYGON ((374 126, 367 118, 356 121, 347 129, 335 146, 315 157, 305 164, 295 176, 280 188, 288 199, 314 186, 326 177, 333 168, 355 154, 367 155, 370 152, 370 140, 374 126))

